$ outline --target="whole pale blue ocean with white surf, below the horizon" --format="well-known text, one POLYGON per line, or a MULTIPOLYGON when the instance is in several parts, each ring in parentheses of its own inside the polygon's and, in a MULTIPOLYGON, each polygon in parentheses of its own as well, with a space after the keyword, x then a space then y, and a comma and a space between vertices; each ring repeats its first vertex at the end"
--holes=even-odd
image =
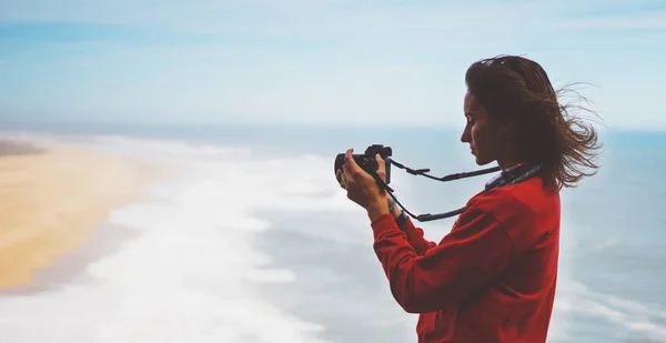
MULTIPOLYGON (((128 239, 81 275, 2 295, 9 343, 416 342, 416 315, 393 300, 364 211, 335 182, 335 154, 384 144, 432 174, 478 169, 460 132, 436 128, 31 125, 2 135, 181 171, 114 209, 100 231, 122 228, 128 239)), ((666 134, 601 140, 598 174, 562 193, 548 342, 666 342, 666 134)), ((393 169, 391 185, 412 212, 441 213, 488 178, 441 183, 393 169)), ((453 222, 418 226, 438 241, 453 222)))

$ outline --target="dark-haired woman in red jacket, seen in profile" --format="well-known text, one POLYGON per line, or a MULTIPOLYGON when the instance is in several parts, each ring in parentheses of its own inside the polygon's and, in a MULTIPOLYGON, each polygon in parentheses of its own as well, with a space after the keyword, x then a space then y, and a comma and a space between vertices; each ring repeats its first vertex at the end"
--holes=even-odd
POLYGON ((438 244, 423 238, 351 149, 339 181, 367 211, 394 299, 420 313, 418 342, 545 342, 557 280, 558 192, 594 174, 582 167, 597 168, 597 137, 568 117, 532 60, 482 60, 465 81, 461 141, 478 165, 496 161, 503 171, 438 244))

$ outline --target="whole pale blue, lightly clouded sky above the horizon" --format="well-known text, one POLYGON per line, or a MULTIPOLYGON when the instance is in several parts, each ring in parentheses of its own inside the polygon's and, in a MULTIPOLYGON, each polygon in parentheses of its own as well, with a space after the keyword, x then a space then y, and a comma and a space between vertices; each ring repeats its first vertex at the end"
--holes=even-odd
POLYGON ((542 63, 666 129, 666 1, 0 1, 0 120, 460 127, 464 73, 542 63))

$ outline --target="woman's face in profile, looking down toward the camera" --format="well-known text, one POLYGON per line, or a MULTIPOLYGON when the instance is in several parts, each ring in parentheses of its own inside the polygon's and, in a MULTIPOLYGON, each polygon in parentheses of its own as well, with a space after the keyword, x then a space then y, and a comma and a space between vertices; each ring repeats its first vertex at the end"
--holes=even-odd
POLYGON ((500 167, 506 168, 507 164, 514 163, 509 158, 511 138, 507 128, 493 122, 470 91, 465 94, 463 110, 467 124, 461 141, 470 144, 476 164, 484 165, 497 161, 500 167))

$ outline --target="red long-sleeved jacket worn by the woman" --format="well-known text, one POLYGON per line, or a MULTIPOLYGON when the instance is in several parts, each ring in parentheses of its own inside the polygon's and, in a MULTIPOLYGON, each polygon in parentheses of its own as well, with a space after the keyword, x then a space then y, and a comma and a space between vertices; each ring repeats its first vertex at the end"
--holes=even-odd
POLYGON ((545 342, 559 250, 559 195, 539 178, 483 191, 436 244, 407 220, 372 222, 391 293, 420 313, 423 343, 545 342))

